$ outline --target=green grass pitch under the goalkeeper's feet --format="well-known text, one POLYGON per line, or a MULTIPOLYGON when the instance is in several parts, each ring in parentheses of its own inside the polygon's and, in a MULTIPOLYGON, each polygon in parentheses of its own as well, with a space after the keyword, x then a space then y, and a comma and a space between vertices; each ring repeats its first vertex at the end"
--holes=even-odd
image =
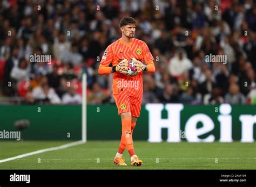
MULTIPOLYGON (((56 147, 71 141, 2 141, 0 160, 56 147)), ((134 141, 143 166, 116 166, 113 157, 119 141, 88 141, 65 149, 53 150, 0 163, 0 169, 256 169, 254 143, 149 143, 134 141), (41 163, 38 163, 38 159, 41 163)))

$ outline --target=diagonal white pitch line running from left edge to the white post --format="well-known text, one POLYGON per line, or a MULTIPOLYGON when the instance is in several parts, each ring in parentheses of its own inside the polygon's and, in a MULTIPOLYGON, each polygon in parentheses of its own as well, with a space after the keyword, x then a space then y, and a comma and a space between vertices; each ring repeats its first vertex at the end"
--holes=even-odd
POLYGON ((39 154, 39 153, 50 152, 52 150, 65 149, 65 148, 68 148, 68 147, 71 147, 71 146, 77 146, 77 145, 83 144, 83 143, 85 143, 85 142, 83 142, 83 141, 75 141, 75 142, 64 144, 64 145, 58 146, 58 147, 51 147, 51 148, 46 148, 46 149, 40 149, 40 150, 36 150, 35 152, 26 153, 26 154, 23 154, 23 155, 18 155, 18 156, 10 157, 8 159, 0 160, 0 163, 8 162, 8 161, 11 161, 11 160, 16 160, 16 159, 21 159, 23 157, 31 156, 31 155, 36 155, 36 154, 39 154))

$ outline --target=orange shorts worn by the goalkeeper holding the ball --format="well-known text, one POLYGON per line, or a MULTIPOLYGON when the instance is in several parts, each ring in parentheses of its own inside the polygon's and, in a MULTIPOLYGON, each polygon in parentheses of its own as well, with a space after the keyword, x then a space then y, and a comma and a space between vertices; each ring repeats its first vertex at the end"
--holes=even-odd
POLYGON ((124 94, 113 95, 116 102, 118 115, 124 112, 131 112, 134 117, 139 117, 140 109, 142 109, 142 97, 132 97, 124 94))

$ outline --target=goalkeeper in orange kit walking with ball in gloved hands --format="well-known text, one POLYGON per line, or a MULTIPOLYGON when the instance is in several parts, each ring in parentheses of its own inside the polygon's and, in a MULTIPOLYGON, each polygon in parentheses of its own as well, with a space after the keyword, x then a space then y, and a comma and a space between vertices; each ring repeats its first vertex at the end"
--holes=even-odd
POLYGON ((113 73, 113 97, 117 105, 118 114, 122 119, 122 136, 118 152, 114 158, 114 163, 126 166, 123 159, 125 148, 131 157, 131 166, 141 166, 142 160, 138 158, 133 148, 132 133, 136 126, 142 106, 143 96, 143 71, 154 73, 155 67, 153 56, 146 43, 134 38, 137 21, 132 17, 124 17, 120 20, 120 30, 122 38, 109 45, 100 61, 98 73, 100 75, 113 73), (129 70, 128 60, 135 63, 137 73, 127 76, 129 70), (143 60, 146 64, 143 64, 143 60), (112 63, 112 67, 109 64, 112 63), (139 83, 138 87, 122 88, 119 81, 134 81, 139 83))

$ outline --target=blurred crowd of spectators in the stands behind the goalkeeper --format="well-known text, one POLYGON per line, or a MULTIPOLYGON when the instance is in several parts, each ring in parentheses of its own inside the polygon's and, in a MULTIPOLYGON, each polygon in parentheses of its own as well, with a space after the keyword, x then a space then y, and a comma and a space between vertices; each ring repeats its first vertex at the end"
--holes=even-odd
POLYGON ((0 97, 24 104, 113 103, 112 76, 98 75, 119 21, 138 21, 156 73, 143 75, 143 104, 256 104, 256 2, 253 0, 2 1, 0 97), (50 55, 34 62, 31 55, 50 55), (207 62, 207 55, 227 61, 207 62))

